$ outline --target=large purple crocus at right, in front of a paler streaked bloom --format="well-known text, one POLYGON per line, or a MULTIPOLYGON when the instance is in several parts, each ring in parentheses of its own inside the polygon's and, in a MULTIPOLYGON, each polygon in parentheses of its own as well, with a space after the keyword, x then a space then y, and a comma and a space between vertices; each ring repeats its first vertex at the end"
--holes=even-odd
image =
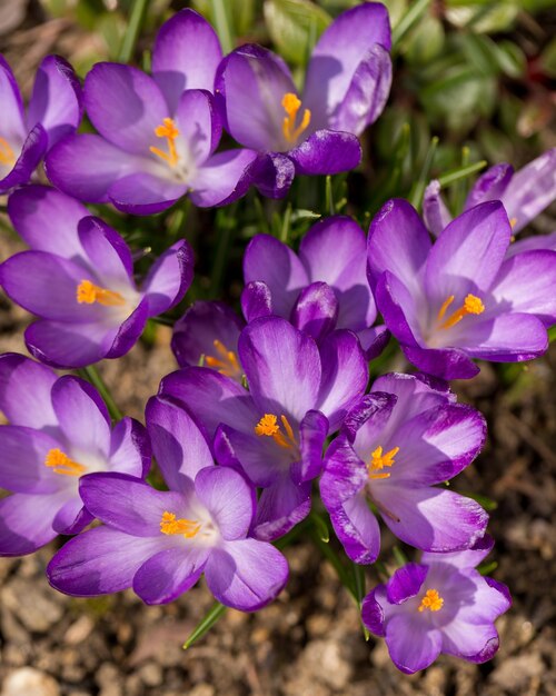
POLYGON ((530 360, 556 320, 556 252, 507 258, 512 228, 489 201, 457 217, 433 246, 404 200, 373 220, 368 275, 386 326, 420 370, 444 379, 479 371, 471 358, 530 360))

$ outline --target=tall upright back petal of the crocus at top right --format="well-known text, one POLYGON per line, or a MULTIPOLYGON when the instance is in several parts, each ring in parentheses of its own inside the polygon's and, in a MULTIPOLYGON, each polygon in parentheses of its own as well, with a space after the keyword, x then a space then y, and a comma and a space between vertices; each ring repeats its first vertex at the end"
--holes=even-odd
MULTIPOLYGON (((383 4, 374 2, 342 12, 322 33, 312 51, 305 87, 305 101, 311 116, 315 115, 317 127, 328 123, 331 128, 341 127, 346 119, 339 117, 338 123, 330 119, 337 111, 341 115, 361 61, 377 43, 389 50, 391 39, 388 12, 383 4)), ((365 97, 361 111, 368 112, 373 93, 365 97)), ((349 111, 354 107, 346 103, 345 108, 349 111)))

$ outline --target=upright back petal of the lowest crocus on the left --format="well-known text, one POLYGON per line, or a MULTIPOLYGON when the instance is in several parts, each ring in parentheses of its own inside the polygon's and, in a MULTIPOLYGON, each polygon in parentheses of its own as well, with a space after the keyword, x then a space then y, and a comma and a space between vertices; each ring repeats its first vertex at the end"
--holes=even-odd
POLYGON ((152 397, 146 408, 152 453, 171 489, 180 490, 183 478, 193 480, 214 466, 207 439, 191 416, 172 400, 152 397))

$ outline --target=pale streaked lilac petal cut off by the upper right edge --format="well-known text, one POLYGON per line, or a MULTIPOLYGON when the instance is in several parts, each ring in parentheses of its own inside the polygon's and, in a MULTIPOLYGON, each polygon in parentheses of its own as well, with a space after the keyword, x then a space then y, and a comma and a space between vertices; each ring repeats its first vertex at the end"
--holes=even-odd
POLYGON ((502 196, 508 218, 518 232, 556 198, 556 148, 517 171, 502 196))

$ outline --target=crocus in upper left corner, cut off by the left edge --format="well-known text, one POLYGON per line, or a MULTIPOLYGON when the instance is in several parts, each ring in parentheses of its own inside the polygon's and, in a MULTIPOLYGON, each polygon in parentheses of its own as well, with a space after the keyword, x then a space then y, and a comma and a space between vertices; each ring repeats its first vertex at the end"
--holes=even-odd
POLYGON ((0 56, 0 195, 27 183, 44 153, 81 120, 81 88, 71 66, 47 56, 27 110, 10 66, 0 56))

